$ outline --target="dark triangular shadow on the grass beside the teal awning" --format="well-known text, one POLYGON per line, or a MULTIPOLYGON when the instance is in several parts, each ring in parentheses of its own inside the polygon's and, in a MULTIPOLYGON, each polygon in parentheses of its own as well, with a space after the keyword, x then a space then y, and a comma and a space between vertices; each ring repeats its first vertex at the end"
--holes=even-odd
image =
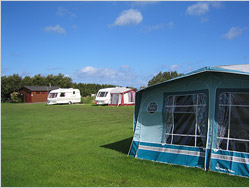
POLYGON ((119 152, 124 153, 124 154, 128 154, 132 139, 133 139, 133 137, 130 137, 130 138, 118 141, 118 142, 103 145, 101 147, 112 149, 115 151, 119 151, 119 152))

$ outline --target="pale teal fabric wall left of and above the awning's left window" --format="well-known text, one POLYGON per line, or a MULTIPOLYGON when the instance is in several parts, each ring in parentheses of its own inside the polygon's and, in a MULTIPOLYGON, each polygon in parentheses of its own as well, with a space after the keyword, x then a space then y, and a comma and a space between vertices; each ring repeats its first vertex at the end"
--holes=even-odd
POLYGON ((163 142, 163 96, 164 93, 190 92, 197 90, 209 90, 209 73, 199 74, 194 77, 187 77, 182 80, 175 80, 165 86, 152 88, 143 92, 139 109, 137 123, 141 124, 142 142, 163 142), (154 113, 148 112, 150 104, 155 103, 157 110, 154 113))

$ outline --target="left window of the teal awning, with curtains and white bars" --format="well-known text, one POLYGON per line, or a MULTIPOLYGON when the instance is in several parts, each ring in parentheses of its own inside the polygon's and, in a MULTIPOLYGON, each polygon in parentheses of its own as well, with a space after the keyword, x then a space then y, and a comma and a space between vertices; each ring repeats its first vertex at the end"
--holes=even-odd
POLYGON ((208 117, 204 93, 168 95, 163 113, 167 144, 206 146, 208 117))

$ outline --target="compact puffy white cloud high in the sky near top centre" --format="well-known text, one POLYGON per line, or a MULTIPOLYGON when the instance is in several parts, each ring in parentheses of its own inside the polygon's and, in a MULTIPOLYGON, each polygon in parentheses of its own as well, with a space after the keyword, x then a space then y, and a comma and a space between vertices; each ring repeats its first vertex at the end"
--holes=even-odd
POLYGON ((140 11, 136 9, 124 10, 112 26, 125 26, 130 24, 139 24, 143 20, 143 16, 140 11))

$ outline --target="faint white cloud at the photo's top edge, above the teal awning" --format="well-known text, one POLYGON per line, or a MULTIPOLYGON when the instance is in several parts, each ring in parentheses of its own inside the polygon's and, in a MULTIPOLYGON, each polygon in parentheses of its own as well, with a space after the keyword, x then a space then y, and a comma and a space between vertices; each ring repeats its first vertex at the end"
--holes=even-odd
POLYGON ((210 8, 221 8, 221 2, 197 2, 187 7, 186 13, 192 16, 201 16, 206 14, 210 8))

